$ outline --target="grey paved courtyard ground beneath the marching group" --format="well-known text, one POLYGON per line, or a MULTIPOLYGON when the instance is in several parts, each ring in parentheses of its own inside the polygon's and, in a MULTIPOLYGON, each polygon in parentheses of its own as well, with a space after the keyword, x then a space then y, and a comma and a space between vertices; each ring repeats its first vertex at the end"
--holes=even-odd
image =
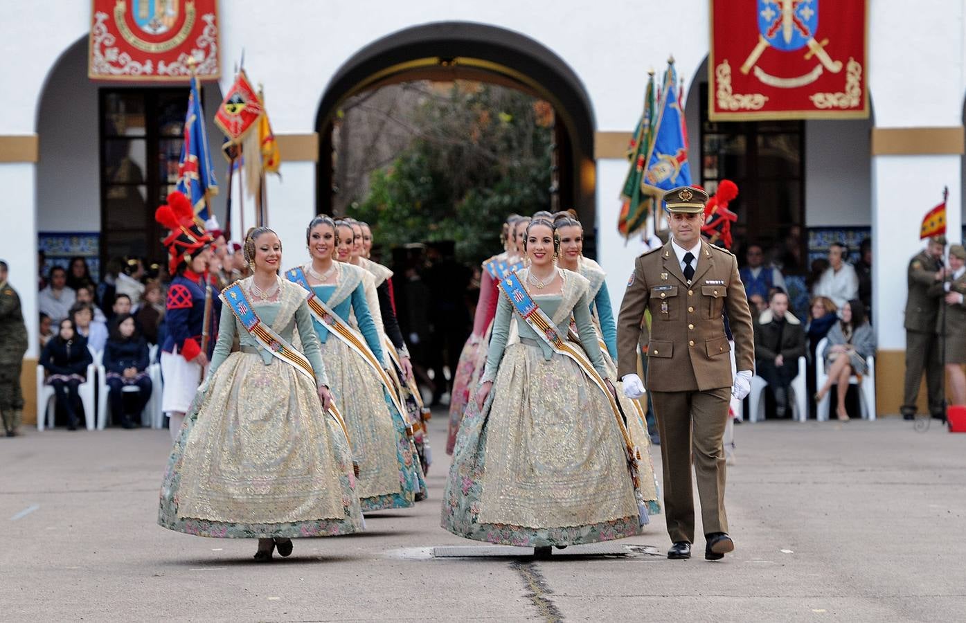
POLYGON ((666 559, 662 516, 547 561, 452 549, 487 546, 439 527, 444 428, 431 500, 271 564, 156 525, 167 431, 0 439, 0 620, 966 620, 966 435, 938 424, 741 425, 720 562, 666 559))

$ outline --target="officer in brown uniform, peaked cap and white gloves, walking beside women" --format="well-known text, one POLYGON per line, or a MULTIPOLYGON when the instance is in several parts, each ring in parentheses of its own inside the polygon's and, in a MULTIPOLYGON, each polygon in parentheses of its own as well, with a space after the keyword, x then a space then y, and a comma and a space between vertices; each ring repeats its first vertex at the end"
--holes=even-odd
POLYGON ((664 199, 671 238, 639 256, 628 281, 617 321, 618 376, 625 395, 643 395, 636 361, 644 311, 650 310, 647 388, 661 433, 664 500, 674 544, 668 558, 691 557, 694 453, 704 557, 717 560, 734 550, 727 534, 722 438, 731 395, 742 399, 751 389, 752 314, 735 257, 701 239, 707 193, 683 186, 668 191, 664 199), (734 335, 738 369, 734 377, 725 311, 734 335))

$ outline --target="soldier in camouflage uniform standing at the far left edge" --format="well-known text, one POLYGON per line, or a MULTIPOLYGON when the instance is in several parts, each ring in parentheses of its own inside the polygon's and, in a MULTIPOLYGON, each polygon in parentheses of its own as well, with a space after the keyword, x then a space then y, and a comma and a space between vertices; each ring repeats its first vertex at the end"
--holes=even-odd
POLYGON ((14 437, 23 414, 20 368, 27 352, 27 327, 20 297, 7 283, 7 263, 0 261, 0 416, 7 437, 14 437))

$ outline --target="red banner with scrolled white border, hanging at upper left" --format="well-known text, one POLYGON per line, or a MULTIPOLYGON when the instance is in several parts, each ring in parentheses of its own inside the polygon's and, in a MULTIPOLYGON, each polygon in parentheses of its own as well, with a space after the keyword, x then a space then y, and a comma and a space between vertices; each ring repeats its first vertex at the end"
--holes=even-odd
POLYGON ((87 74, 94 80, 217 78, 217 0, 93 0, 87 74))

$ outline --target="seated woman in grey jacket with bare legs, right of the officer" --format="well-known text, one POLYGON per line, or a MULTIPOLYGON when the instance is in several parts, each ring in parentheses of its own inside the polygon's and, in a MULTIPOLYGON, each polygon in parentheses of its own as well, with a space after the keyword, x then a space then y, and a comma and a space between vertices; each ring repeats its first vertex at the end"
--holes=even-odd
POLYGON ((832 385, 838 388, 836 417, 849 419, 845 411, 845 393, 853 374, 867 374, 866 357, 875 354, 875 333, 866 320, 866 309, 858 298, 846 301, 839 314, 839 322, 829 329, 825 345, 825 368, 829 378, 815 394, 815 402, 821 402, 832 385))

